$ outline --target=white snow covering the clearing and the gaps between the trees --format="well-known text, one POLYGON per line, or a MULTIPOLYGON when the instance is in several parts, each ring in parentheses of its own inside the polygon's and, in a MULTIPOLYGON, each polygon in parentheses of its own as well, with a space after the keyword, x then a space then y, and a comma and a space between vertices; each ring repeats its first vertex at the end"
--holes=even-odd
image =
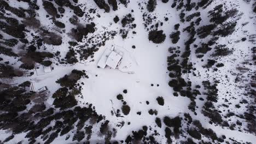
MULTIPOLYGON (((27 4, 25 2, 17 2, 17 1, 9 1, 8 2, 12 7, 24 7, 27 8, 27 4)), ((89 76, 89 79, 81 79, 79 82, 85 83, 82 86, 82 95, 83 97, 76 97, 78 101, 78 105, 87 106, 86 103, 92 104, 95 106, 95 110, 99 115, 103 115, 107 120, 110 121, 110 127, 117 129, 117 135, 114 137, 114 140, 125 140, 128 135, 132 133, 132 131, 138 130, 143 125, 147 125, 148 127, 152 127, 154 130, 157 130, 159 136, 155 137, 156 141, 161 143, 166 143, 165 137, 165 129, 156 127, 155 118, 156 117, 176 117, 183 116, 183 113, 190 113, 193 119, 198 119, 202 123, 202 126, 205 128, 213 129, 218 136, 225 135, 228 140, 229 138, 235 139, 239 142, 256 142, 255 134, 248 133, 246 129, 246 125, 242 125, 241 130, 235 129, 230 130, 226 127, 220 127, 219 125, 214 125, 209 123, 209 118, 203 116, 201 113, 201 109, 205 101, 199 100, 199 98, 206 98, 205 95, 197 96, 196 109, 197 115, 194 115, 194 112, 188 110, 188 105, 190 103, 190 99, 187 97, 178 97, 173 96, 173 89, 168 86, 168 82, 170 81, 170 77, 168 76, 169 72, 167 70, 167 57, 170 56, 168 49, 170 47, 184 47, 185 40, 188 39, 188 34, 181 35, 181 39, 179 39, 177 44, 172 44, 169 34, 173 32, 173 26, 179 22, 179 13, 176 9, 171 8, 172 1, 168 3, 162 3, 158 1, 158 5, 156 5, 156 9, 151 13, 155 15, 156 21, 162 21, 164 24, 159 27, 159 29, 163 30, 166 34, 166 40, 162 44, 154 44, 148 40, 148 31, 144 28, 144 21, 142 14, 147 11, 146 4, 144 1, 135 1, 130 0, 130 3, 127 5, 127 8, 123 4, 118 5, 118 10, 113 11, 112 7, 110 7, 110 13, 104 13, 103 9, 98 9, 97 5, 94 1, 86 1, 80 0, 79 4, 83 4, 84 9, 96 9, 95 14, 90 14, 90 16, 94 16, 93 22, 95 23, 96 31, 95 33, 89 33, 88 37, 92 35, 100 35, 104 31, 117 31, 122 28, 121 22, 114 23, 113 19, 116 15, 123 17, 126 14, 131 13, 131 10, 134 12, 131 13, 133 17, 135 17, 136 28, 130 29, 127 38, 123 39, 121 35, 117 34, 113 39, 107 40, 104 46, 98 47, 99 50, 95 52, 93 58, 89 58, 88 60, 79 61, 73 65, 56 65, 57 62, 53 63, 54 69, 50 73, 37 75, 36 73, 30 77, 18 77, 17 79, 13 79, 11 83, 21 83, 24 81, 31 81, 36 86, 36 89, 46 86, 49 91, 49 98, 46 100, 46 106, 53 105, 54 99, 51 97, 57 89, 61 88, 61 86, 56 83, 57 79, 63 77, 66 74, 71 73, 73 69, 77 70, 85 70, 85 73, 89 76), (141 3, 144 9, 139 7, 138 3, 141 3), (100 14, 100 17, 96 15, 100 14), (168 17, 168 21, 165 21, 165 17, 168 17), (136 31, 136 34, 132 34, 132 31, 136 31), (106 67, 104 69, 98 68, 97 63, 101 58, 103 52, 106 49, 109 49, 115 45, 118 51, 123 53, 123 58, 121 59, 121 63, 117 69, 110 69, 106 67), (135 45, 136 48, 133 49, 132 46, 135 45), (94 61, 91 61, 94 59, 94 61), (127 93, 123 93, 124 89, 127 89, 127 93), (123 105, 120 100, 117 99, 117 95, 122 94, 124 97, 124 101, 126 101, 127 105, 130 106, 131 111, 129 115, 123 115, 123 117, 117 117, 113 115, 111 111, 117 111, 117 109, 121 110, 121 106, 123 105), (156 101, 157 97, 164 98, 164 105, 161 106, 156 101), (149 104, 146 104, 146 101, 149 101, 149 104), (150 109, 157 110, 158 115, 149 115, 148 111, 150 109), (141 115, 138 115, 137 112, 141 112, 141 115), (123 127, 116 127, 117 124, 125 122, 123 127), (130 122, 130 124, 127 124, 130 122)), ((251 74, 252 71, 255 71, 256 68, 254 65, 243 64, 245 61, 249 61, 249 57, 252 57, 251 47, 252 43, 249 41, 238 42, 237 40, 241 40, 242 37, 246 35, 255 34, 255 15, 252 10, 248 7, 251 3, 246 3, 245 1, 214 1, 207 9, 204 9, 201 12, 202 21, 199 26, 205 25, 208 22, 207 12, 213 9, 217 4, 226 3, 229 8, 237 8, 240 12, 243 13, 241 19, 237 20, 236 31, 225 38, 219 38, 219 44, 226 44, 229 49, 234 48, 234 52, 232 55, 219 58, 217 61, 224 63, 225 67, 218 68, 218 71, 207 70, 202 68, 202 65, 205 65, 207 59, 205 61, 201 61, 201 59, 196 58, 195 49, 191 49, 191 55, 189 57, 189 61, 193 63, 193 67, 196 68, 194 73, 197 76, 194 76, 193 73, 183 74, 182 78, 185 80, 192 81, 192 86, 200 85, 204 80, 218 80, 217 88, 219 100, 214 105, 217 107, 219 111, 222 111, 222 115, 224 116, 228 109, 232 112, 237 112, 237 114, 242 114, 242 112, 247 110, 246 106, 242 106, 240 109, 235 108, 235 105, 239 103, 242 99, 247 99, 248 101, 252 101, 253 98, 243 97, 243 94, 246 93, 245 88, 238 88, 243 85, 248 85, 248 82, 240 82, 234 83, 236 79, 236 75, 239 71, 237 67, 246 67, 250 69, 246 73, 243 73, 244 76, 251 74), (249 22, 246 26, 241 26, 242 23, 249 22), (229 92, 229 94, 227 94, 229 92), (236 99, 232 99, 231 97, 236 97, 236 99), (224 100, 229 100, 229 108, 221 106, 224 103, 224 100)), ((42 1, 37 1, 38 5, 42 5, 42 1)), ((194 13, 195 10, 189 11, 189 14, 194 13)), ((65 16, 62 17, 61 21, 63 23, 68 23, 69 17, 72 16, 71 12, 66 9, 65 16)), ((50 29, 54 29, 55 27, 51 26, 51 20, 45 19, 46 11, 43 8, 38 10, 37 19, 41 21, 44 27, 49 27, 50 29)), ((17 18, 19 19, 19 18, 17 18)), ((80 23, 87 24, 88 21, 86 17, 82 17, 80 19, 80 23)), ((181 23, 181 28, 189 26, 189 23, 181 23)), ((65 31, 68 33, 71 28, 74 26, 69 23, 66 24, 65 31)), ((28 35, 27 37, 31 37, 28 35)), ((207 39, 207 38, 206 38, 207 39)), ((56 52, 60 51, 62 58, 65 57, 65 53, 68 51, 68 41, 72 39, 67 34, 62 34, 62 45, 53 46, 45 44, 45 48, 47 51, 56 52), (60 48, 61 47, 61 48, 60 48)), ((195 43, 201 43, 201 39, 197 39, 195 43)), ((84 39, 83 42, 79 42, 78 44, 87 43, 84 39)), ((255 46, 255 45, 254 45, 255 46)), ((183 48, 182 48, 183 49, 183 48)), ((181 49, 181 50, 182 50, 181 49)), ((42 49, 40 51, 43 51, 42 49)), ((0 54, 1 55, 1 54, 0 54)), ((211 57, 211 53, 207 53, 204 57, 211 57)), ((3 56, 2 58, 6 58, 9 61, 12 61, 11 57, 3 56)), ((13 60, 14 61, 14 60, 13 60)), ((19 62, 17 64, 20 64, 19 62)), ((31 70, 33 71, 33 70, 31 70)), ((203 87, 200 88, 200 92, 203 92, 203 87)), ((237 117, 227 118, 229 122, 236 122, 237 117)), ((243 122, 243 120, 241 120, 243 122)), ((89 122, 86 122, 89 123, 89 122)), ((162 122, 162 125, 164 123, 162 122)), ((100 124, 97 127, 93 128, 92 137, 90 139, 91 143, 104 143, 104 136, 100 136, 97 133, 96 129, 100 128, 100 124)), ((76 128, 74 128, 76 129, 76 128)), ((153 134, 154 131, 150 131, 149 134, 153 134)), ((69 132, 71 137, 73 137, 74 133, 69 132)), ((11 135, 11 131, 1 130, 0 131, 0 141, 4 141, 6 137, 11 135)), ((28 143, 28 139, 24 138, 26 133, 21 133, 15 135, 14 139, 8 141, 7 143, 18 143, 23 140, 24 143, 28 143)), ((52 143, 77 143, 77 141, 72 141, 72 139, 65 140, 66 135, 58 136, 52 143)), ((40 136, 36 139, 39 143, 44 143, 40 136)), ((182 139, 173 139, 173 143, 180 143, 181 140, 185 140, 184 137, 182 139)), ((207 140, 205 137, 202 137, 202 140, 207 140)), ((82 141, 81 141, 82 142, 82 141)), ((199 141, 194 140, 194 142, 198 143, 199 141)))

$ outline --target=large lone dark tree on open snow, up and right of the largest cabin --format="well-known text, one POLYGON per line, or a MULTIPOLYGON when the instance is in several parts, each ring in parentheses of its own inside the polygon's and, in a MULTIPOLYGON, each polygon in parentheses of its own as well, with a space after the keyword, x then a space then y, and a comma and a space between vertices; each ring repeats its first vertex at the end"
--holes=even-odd
POLYGON ((150 31, 148 33, 148 40, 152 41, 155 44, 161 44, 165 41, 166 35, 163 33, 164 31, 150 31))

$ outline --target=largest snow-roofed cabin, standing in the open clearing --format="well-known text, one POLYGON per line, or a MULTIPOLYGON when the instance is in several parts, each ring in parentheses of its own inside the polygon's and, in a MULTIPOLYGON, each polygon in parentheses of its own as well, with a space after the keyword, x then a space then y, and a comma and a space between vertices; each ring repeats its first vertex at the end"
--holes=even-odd
POLYGON ((104 69, 106 66, 117 69, 118 65, 121 63, 121 59, 123 58, 122 52, 117 52, 112 46, 110 49, 106 49, 98 61, 98 67, 104 69))

